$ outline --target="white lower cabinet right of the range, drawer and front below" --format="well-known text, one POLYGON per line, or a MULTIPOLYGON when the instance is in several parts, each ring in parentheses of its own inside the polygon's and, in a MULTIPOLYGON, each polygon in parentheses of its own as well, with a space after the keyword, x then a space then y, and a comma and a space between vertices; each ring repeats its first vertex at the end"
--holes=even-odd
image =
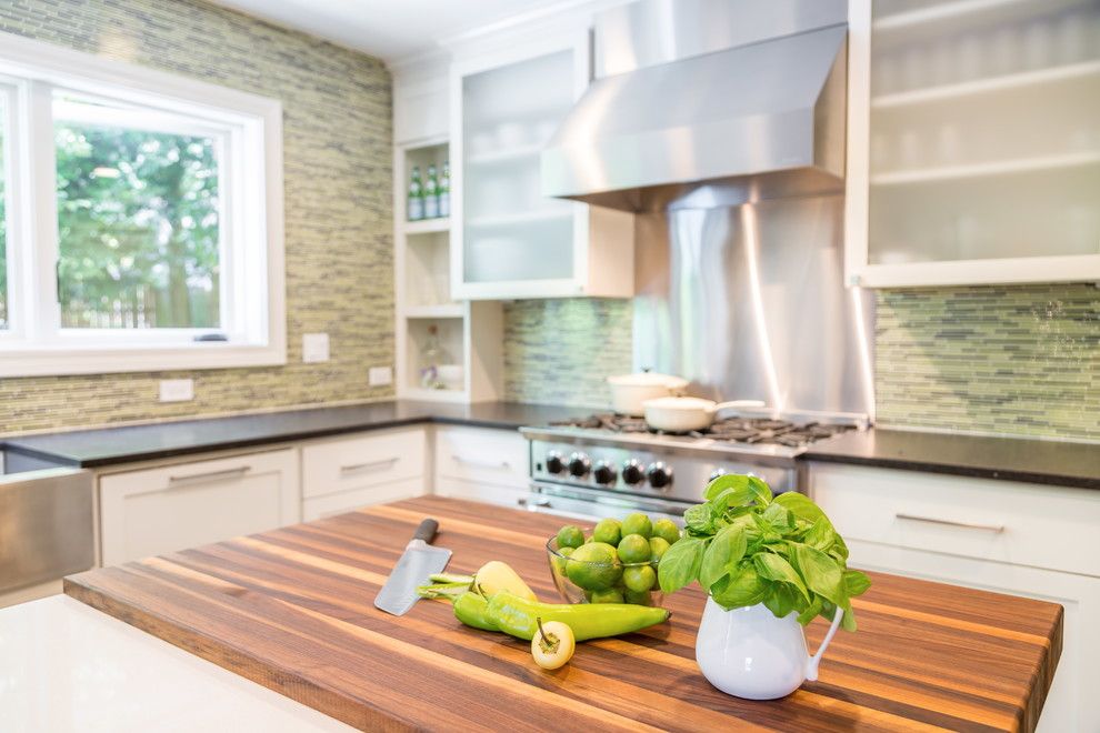
POLYGON ((814 463, 810 494, 853 565, 1060 603, 1062 655, 1039 731, 1100 731, 1087 689, 1100 650, 1100 492, 814 463))

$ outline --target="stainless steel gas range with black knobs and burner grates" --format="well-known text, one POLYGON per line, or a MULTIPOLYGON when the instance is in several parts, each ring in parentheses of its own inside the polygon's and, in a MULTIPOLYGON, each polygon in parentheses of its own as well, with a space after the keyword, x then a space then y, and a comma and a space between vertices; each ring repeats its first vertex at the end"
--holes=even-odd
POLYGON ((634 510, 680 519, 722 473, 757 475, 777 493, 803 485, 797 458, 810 443, 866 430, 864 415, 739 415, 706 431, 652 431, 641 418, 598 413, 526 426, 532 495, 528 508, 571 516, 634 510))

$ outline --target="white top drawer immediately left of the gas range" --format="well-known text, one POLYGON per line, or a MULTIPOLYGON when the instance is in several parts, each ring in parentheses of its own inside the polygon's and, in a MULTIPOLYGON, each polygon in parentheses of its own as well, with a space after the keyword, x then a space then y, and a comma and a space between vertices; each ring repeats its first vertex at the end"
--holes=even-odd
POLYGON ((514 430, 442 428, 436 432, 436 475, 527 490, 528 443, 514 430))

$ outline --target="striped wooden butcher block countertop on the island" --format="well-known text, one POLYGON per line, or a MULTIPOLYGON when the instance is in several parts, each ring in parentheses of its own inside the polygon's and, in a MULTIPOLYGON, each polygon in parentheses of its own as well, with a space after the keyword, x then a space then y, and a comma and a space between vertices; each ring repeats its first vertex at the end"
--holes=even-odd
MULTIPOLYGON (((667 624, 578 644, 546 672, 529 644, 421 601, 374 609, 420 520, 439 520, 448 570, 516 568, 557 601, 546 539, 560 518, 442 498, 66 579, 66 593, 351 725, 368 730, 1031 730, 1061 651, 1061 606, 871 574, 820 679, 778 701, 718 692, 694 662, 704 596, 666 598, 667 624)), ((807 632, 811 650, 826 630, 807 632)))

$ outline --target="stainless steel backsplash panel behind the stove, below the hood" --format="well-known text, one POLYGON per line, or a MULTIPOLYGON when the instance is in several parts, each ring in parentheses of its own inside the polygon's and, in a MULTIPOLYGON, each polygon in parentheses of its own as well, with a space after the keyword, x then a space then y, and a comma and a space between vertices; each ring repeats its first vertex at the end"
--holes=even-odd
POLYGON ((843 287, 843 197, 638 215, 633 362, 712 399, 874 412, 874 300, 843 287))

